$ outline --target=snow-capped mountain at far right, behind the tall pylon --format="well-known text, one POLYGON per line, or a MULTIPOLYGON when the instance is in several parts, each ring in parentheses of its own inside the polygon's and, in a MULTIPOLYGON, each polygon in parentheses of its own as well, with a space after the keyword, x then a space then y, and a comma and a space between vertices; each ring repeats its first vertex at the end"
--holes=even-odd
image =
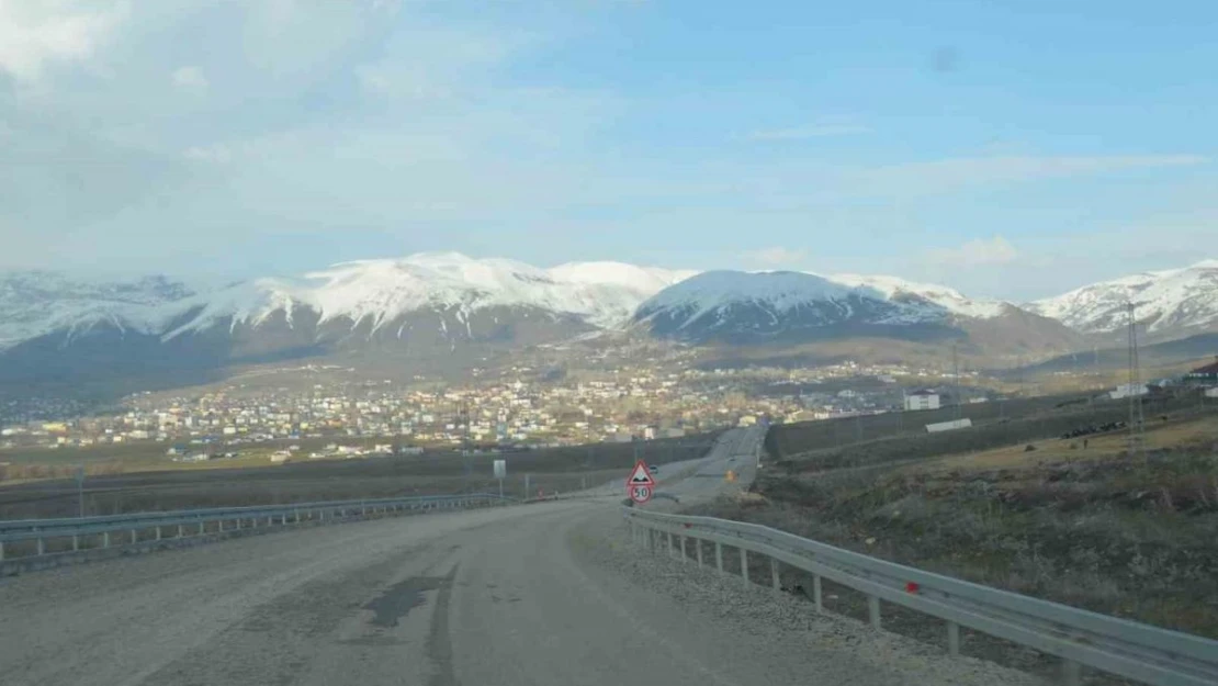
POLYGON ((1152 340, 1216 331, 1218 260, 1091 284, 1024 308, 1085 334, 1119 336, 1128 324, 1130 302, 1152 340))

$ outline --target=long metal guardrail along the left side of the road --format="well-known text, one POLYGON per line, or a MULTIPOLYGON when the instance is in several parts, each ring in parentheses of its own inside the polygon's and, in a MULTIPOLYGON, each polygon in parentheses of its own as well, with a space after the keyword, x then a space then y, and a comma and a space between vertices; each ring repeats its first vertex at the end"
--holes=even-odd
POLYGON ((27 554, 12 556, 7 559, 28 559, 38 556, 71 554, 82 550, 112 547, 113 534, 125 534, 124 545, 144 541, 160 541, 166 529, 174 532, 172 537, 199 536, 205 534, 223 534, 259 526, 287 526, 302 522, 341 520, 369 514, 390 514, 398 512, 457 509, 465 507, 486 507, 503 502, 513 502, 491 493, 469 493, 457 496, 415 496, 402 498, 375 498, 362 501, 325 501, 290 503, 275 506, 225 507, 211 509, 184 509, 171 512, 136 512, 106 517, 82 517, 77 519, 16 519, 0 520, 0 562, 6 559, 6 543, 34 541, 27 554), (230 526, 225 529, 225 524, 230 526), (208 530, 208 525, 211 530, 208 530), (150 534, 151 531, 151 534, 150 534), (141 534, 144 536, 141 537, 141 534), (71 539, 71 550, 48 551, 48 542, 71 539), (100 545, 83 547, 82 543, 96 539, 100 545))

